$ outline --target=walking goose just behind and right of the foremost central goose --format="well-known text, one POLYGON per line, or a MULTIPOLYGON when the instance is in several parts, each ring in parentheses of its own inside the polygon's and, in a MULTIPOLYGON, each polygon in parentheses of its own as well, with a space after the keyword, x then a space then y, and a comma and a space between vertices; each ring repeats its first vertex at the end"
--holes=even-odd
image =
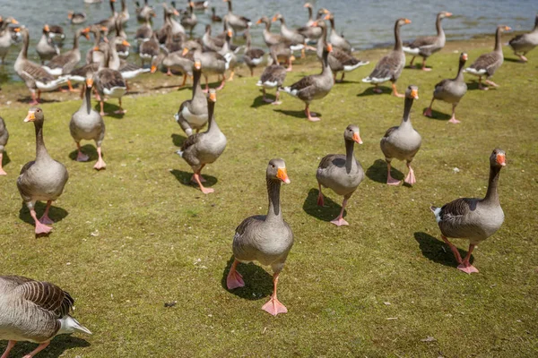
POLYGON ((323 193, 321 192, 322 186, 331 188, 333 192, 343 196, 342 210, 340 210, 338 217, 331 221, 335 226, 349 225, 343 218, 343 210, 353 192, 357 190, 360 182, 364 179, 362 166, 360 166, 359 161, 355 159, 353 154, 355 142, 362 144, 359 127, 354 124, 348 125, 345 132, 343 132, 343 140, 345 142, 345 155, 329 154, 325 156, 319 162, 316 173, 319 188, 317 205, 324 206, 323 193))

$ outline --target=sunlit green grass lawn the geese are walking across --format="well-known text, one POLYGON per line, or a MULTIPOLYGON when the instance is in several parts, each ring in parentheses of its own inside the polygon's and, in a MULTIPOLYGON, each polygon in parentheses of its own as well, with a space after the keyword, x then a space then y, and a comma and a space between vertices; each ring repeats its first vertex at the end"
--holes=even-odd
MULTIPOLYGON (((216 105, 228 148, 204 168, 215 189, 208 196, 187 183, 190 168, 174 154, 185 135, 172 115, 189 90, 126 97, 128 113, 105 119, 108 167, 100 173, 92 169, 93 143, 85 146, 90 163, 73 160, 68 123, 80 102, 44 104, 48 151, 70 178, 51 211, 54 231, 37 239, 15 185, 21 166, 35 155, 32 125, 22 122, 28 106, 15 100, 26 92, 21 84, 4 86, 4 95, 6 89, 14 95, 1 113, 11 132, 8 175, 0 178, 2 273, 63 287, 76 300, 74 316, 93 331, 91 337, 56 337, 39 357, 538 354, 536 54, 529 64, 505 61, 493 78, 497 90, 475 90, 466 77, 470 90, 457 108, 462 124, 447 124, 450 106, 440 102, 437 119, 421 115, 433 85, 455 75, 455 51, 468 51, 471 63, 492 42, 450 43, 428 61, 434 71, 406 69, 398 81, 400 91, 419 86, 412 124, 423 141, 413 187, 384 184, 379 139, 400 123, 404 100, 369 95, 360 79, 372 64, 313 103, 322 115, 317 124, 303 118, 302 102, 283 93, 282 106, 261 106, 257 77, 230 82, 216 105), (360 126, 364 144, 356 156, 367 177, 349 202, 351 226, 337 228, 328 220, 342 198, 327 190, 327 207, 317 208, 315 173, 320 158, 343 153, 343 130, 351 123, 360 126), (507 152, 500 176, 506 221, 473 252, 481 272, 467 276, 440 241, 429 207, 483 196, 495 147, 507 152), (265 268, 242 265, 247 286, 233 292, 225 288, 225 275, 235 227, 266 212, 265 166, 276 157, 286 160, 291 178, 282 188, 282 210, 296 242, 279 290, 290 312, 273 318, 261 311, 272 291, 265 268)), ((361 55, 375 63, 385 53, 361 55)), ((508 48, 505 55, 513 58, 508 48)), ((286 83, 317 71, 315 63, 298 65, 286 83)), ((180 81, 161 76, 137 82, 147 90, 180 81)), ((406 173, 404 163, 395 162, 393 175, 402 178, 399 172, 406 173)), ((38 208, 39 214, 44 206, 38 208)), ((455 243, 466 251, 465 241, 455 243)), ((0 350, 5 345, 0 342, 0 350)), ((34 346, 16 345, 13 356, 34 346)))

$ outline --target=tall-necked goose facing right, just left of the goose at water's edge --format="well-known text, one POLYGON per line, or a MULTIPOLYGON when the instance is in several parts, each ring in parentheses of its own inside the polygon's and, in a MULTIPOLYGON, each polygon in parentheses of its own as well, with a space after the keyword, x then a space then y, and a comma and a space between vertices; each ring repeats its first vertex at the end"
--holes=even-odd
POLYGON ((400 27, 408 23, 411 23, 411 20, 403 18, 396 20, 395 48, 388 55, 379 60, 379 62, 376 64, 376 68, 374 68, 374 71, 372 71, 368 77, 362 79, 363 82, 375 84, 375 93, 383 92, 377 87, 379 83, 391 81, 393 95, 399 98, 404 98, 404 95, 398 93, 398 90, 396 90, 396 81, 398 81, 400 74, 402 74, 402 70, 404 70, 405 65, 405 55, 404 51, 402 50, 402 38, 400 38, 400 27))

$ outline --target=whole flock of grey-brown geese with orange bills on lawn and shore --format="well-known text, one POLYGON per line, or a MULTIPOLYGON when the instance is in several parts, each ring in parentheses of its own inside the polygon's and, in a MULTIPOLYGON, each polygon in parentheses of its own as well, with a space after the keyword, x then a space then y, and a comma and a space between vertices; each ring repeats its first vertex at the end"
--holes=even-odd
MULTIPOLYGON (((242 62, 247 65, 251 75, 254 74, 253 70, 262 64, 265 55, 264 50, 251 47, 249 29, 252 22, 232 12, 231 0, 224 1, 228 3, 229 12, 221 19, 213 8, 212 21, 223 21, 225 30, 219 36, 212 37, 212 28, 208 25, 202 38, 192 38, 197 22, 195 10, 205 9, 208 2, 189 1, 187 10, 178 9, 174 3, 170 6, 164 4, 165 23, 160 30, 152 29, 151 19, 156 16, 155 9, 147 0, 142 5, 137 3, 136 19, 143 24, 136 31, 134 41, 138 44, 137 52, 141 62, 144 64, 147 61, 150 68, 126 62, 131 45, 123 31, 123 26, 130 19, 125 0, 121 1, 122 11, 119 13, 114 7, 115 0, 109 0, 111 16, 76 30, 73 47, 65 53, 60 53, 56 46, 56 41, 64 38, 63 30, 45 24, 36 47, 41 64, 36 64, 28 58, 30 44, 28 29, 18 26, 18 22, 12 17, 0 17, 0 57, 4 61, 13 38, 22 38, 22 50, 14 68, 30 90, 32 106, 39 103, 41 91, 56 90, 64 84, 67 84, 69 90, 74 90, 72 81, 82 83, 82 105, 72 115, 69 129, 78 148, 76 158, 78 161, 88 160, 88 156, 82 153, 80 142, 82 140, 96 142, 99 158, 94 168, 98 170, 106 167, 101 153, 101 143, 105 136, 105 123, 102 118, 105 115, 103 112, 105 98, 118 98, 119 112, 125 113, 121 107, 121 98, 128 90, 127 81, 138 73, 156 72, 161 66, 167 70, 167 74, 182 72, 183 85, 187 77, 192 76, 192 98, 183 102, 175 115, 178 124, 188 136, 178 150, 178 155, 192 167, 192 181, 197 183, 202 192, 208 194, 213 192, 213 189, 204 187, 201 170, 217 160, 227 144, 226 136, 215 121, 217 92, 215 89, 209 89, 208 77, 210 75, 219 77, 221 84, 217 90, 224 87, 227 72, 230 72, 228 80, 233 79, 234 71, 239 64, 237 54, 241 47, 235 46, 232 38, 240 31, 244 31, 247 41, 246 47, 243 48, 242 62), (180 14, 182 14, 181 20, 175 20, 180 14), (190 38, 187 33, 191 35, 190 38), (90 34, 94 37, 94 46, 86 55, 86 64, 79 66, 82 59, 79 38, 90 38, 90 34), (201 84, 203 76, 206 83, 205 90, 201 84), (100 101, 100 112, 91 106, 92 92, 100 101), (207 130, 200 132, 205 125, 207 130)), ((85 2, 96 1, 85 0, 85 2)), ((288 28, 280 13, 274 15, 272 19, 264 16, 256 22, 265 26, 263 36, 270 58, 257 86, 262 88, 264 100, 272 102, 273 105, 281 103, 281 90, 299 98, 306 105, 305 114, 308 120, 318 121, 319 118, 310 112, 310 103, 324 98, 329 93, 336 82, 338 72, 343 72, 341 78, 343 79, 345 72, 353 71, 369 62, 356 58, 350 43, 334 30, 333 13, 320 9, 314 18, 312 6, 310 4, 304 6, 308 9, 309 16, 306 26, 302 28, 288 28), (281 22, 280 34, 270 31, 275 21, 281 22), (325 21, 330 23, 330 33, 325 21), (286 73, 292 70, 292 62, 295 60, 294 52, 300 51, 301 56, 304 56, 306 50, 316 52, 321 60, 322 71, 284 86, 286 73), (270 89, 276 90, 274 100, 265 95, 265 91, 270 89)), ((404 18, 396 20, 394 49, 381 58, 369 76, 362 80, 373 83, 375 92, 381 92, 378 88, 380 83, 391 81, 393 95, 404 98, 401 124, 389 128, 380 141, 381 150, 386 158, 386 183, 389 185, 400 184, 400 181, 390 175, 393 159, 406 162, 408 175, 404 183, 409 185, 416 183, 411 163, 421 149, 421 135, 413 129, 410 117, 412 104, 418 98, 419 90, 412 85, 407 87, 404 93, 399 93, 396 89, 396 81, 405 65, 404 54, 412 55, 411 64, 416 56, 421 56, 423 58, 421 69, 430 71, 430 68, 426 67, 426 60, 445 46, 446 38, 441 21, 451 15, 447 12, 438 13, 437 36, 417 38, 405 46, 400 36, 400 29, 411 21, 404 18)), ((88 20, 84 13, 70 12, 68 16, 73 24, 81 24, 88 20)), ((431 106, 434 100, 438 99, 453 105, 452 118, 449 122, 455 124, 459 122, 456 120, 455 111, 467 90, 464 72, 478 76, 482 90, 488 89, 482 85, 482 77, 486 78, 485 82, 488 85, 497 87, 490 78, 503 62, 500 36, 506 30, 510 28, 504 25, 497 28, 494 50, 478 57, 471 66, 465 67, 468 60, 465 53, 459 56, 456 77, 435 85, 430 107, 425 110, 424 115, 431 115, 431 106)), ((513 38, 509 45, 522 61, 527 61, 526 53, 538 45, 538 16, 534 30, 513 38)), ((35 234, 48 234, 53 223, 48 217, 48 210, 51 203, 62 194, 68 173, 63 164, 48 155, 43 139, 45 122, 43 110, 40 107, 30 107, 24 121, 33 122, 35 126, 36 158, 22 166, 17 187, 35 222, 35 234), (45 212, 40 218, 37 217, 34 208, 38 200, 47 201, 45 212)), ((0 118, 0 175, 5 175, 1 163, 7 139, 8 132, 4 120, 0 118)), ((319 185, 318 205, 324 205, 322 188, 330 188, 343 196, 342 210, 338 217, 331 221, 335 226, 349 225, 343 218, 344 209, 364 178, 362 166, 353 154, 355 143, 362 143, 359 127, 354 124, 347 126, 343 132, 343 140, 345 154, 330 154, 322 158, 316 174, 319 185)), ((490 179, 483 199, 457 199, 440 208, 430 208, 437 219, 443 240, 454 252, 458 268, 469 274, 478 272, 469 262, 474 246, 494 234, 504 221, 497 189, 500 169, 506 166, 506 153, 502 149, 494 149, 489 161, 490 179), (469 250, 464 259, 461 258, 456 246, 448 241, 448 237, 469 240, 469 250)), ((282 159, 274 158, 269 161, 266 167, 266 183, 269 197, 267 215, 247 217, 237 227, 232 244, 235 260, 227 277, 227 286, 234 289, 245 285, 238 270, 240 262, 256 260, 271 266, 274 272, 273 294, 269 302, 263 306, 263 310, 277 315, 287 311, 277 299, 277 285, 278 277, 293 244, 291 227, 282 218, 281 184, 290 183, 282 159)), ((53 284, 26 277, 0 277, 0 339, 9 340, 2 358, 7 357, 16 341, 39 343, 34 351, 26 355, 31 357, 47 347, 57 334, 74 331, 91 334, 90 330, 70 316, 73 304, 71 295, 53 284)))

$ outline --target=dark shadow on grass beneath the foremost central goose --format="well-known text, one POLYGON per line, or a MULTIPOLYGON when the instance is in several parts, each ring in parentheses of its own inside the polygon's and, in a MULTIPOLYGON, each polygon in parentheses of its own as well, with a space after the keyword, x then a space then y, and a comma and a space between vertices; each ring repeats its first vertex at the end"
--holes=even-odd
POLYGON ((245 300, 257 301, 263 297, 273 294, 273 276, 271 276, 264 268, 261 268, 254 263, 248 264, 239 263, 238 271, 243 276, 245 281, 244 287, 234 288, 230 290, 226 285, 226 277, 230 272, 231 264, 234 261, 233 255, 222 271, 221 286, 230 294, 235 294, 245 300))

